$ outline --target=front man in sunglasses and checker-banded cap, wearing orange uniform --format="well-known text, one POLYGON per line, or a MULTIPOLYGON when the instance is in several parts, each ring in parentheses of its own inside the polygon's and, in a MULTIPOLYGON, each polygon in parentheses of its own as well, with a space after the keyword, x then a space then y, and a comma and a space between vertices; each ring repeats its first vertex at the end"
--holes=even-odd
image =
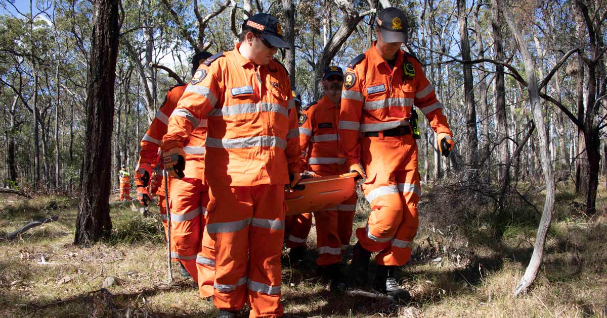
POLYGON ((271 15, 251 16, 232 51, 203 64, 169 119, 164 167, 182 175, 183 144, 208 116, 206 230, 215 240, 213 302, 217 317, 280 317, 284 188, 299 182, 296 109, 287 70, 273 59, 287 47, 271 15))

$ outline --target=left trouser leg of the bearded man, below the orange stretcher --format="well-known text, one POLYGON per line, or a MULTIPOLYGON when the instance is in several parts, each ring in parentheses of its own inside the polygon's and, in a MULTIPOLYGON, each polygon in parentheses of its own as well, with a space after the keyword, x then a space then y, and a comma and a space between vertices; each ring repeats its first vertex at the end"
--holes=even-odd
POLYGON ((341 262, 341 242, 337 235, 337 210, 314 212, 316 220, 316 246, 319 266, 341 262))

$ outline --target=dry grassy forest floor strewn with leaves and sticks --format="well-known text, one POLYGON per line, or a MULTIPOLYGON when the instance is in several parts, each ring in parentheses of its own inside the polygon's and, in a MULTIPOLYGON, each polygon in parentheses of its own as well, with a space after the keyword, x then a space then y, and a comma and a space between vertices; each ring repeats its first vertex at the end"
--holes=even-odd
MULTIPOLYGON (((481 217, 470 217, 487 214, 492 203, 459 201, 466 211, 448 211, 456 221, 438 222, 422 196, 412 262, 400 277, 412 294, 408 303, 327 291, 315 274, 313 229, 304 262, 311 265, 283 267, 285 317, 607 317, 605 187, 600 187, 597 214, 587 216, 580 211, 583 198, 574 196, 571 185, 559 184, 540 274, 520 297, 512 291, 531 257, 537 213, 529 207, 512 210, 496 238, 481 217)), ((541 211, 543 193, 531 201, 541 211)), ((141 216, 135 201, 112 208, 112 237, 81 248, 72 245, 76 205, 77 199, 65 197, 0 197, 0 236, 30 220, 59 216, 58 222, 0 242, 0 317, 214 317, 212 303, 198 299, 177 265, 174 283, 167 283, 157 208, 151 209, 152 217, 141 216), (101 290, 106 277, 117 284, 101 290)), ((365 211, 358 209, 355 227, 364 225, 365 211)), ((345 258, 351 259, 351 248, 345 258)))

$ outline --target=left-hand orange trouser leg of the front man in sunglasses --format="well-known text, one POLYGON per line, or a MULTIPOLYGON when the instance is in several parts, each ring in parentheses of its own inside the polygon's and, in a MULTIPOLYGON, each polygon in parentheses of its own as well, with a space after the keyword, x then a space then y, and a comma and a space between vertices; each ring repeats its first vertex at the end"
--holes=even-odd
POLYGON ((215 241, 213 303, 240 310, 246 302, 251 187, 211 186, 206 231, 215 241))

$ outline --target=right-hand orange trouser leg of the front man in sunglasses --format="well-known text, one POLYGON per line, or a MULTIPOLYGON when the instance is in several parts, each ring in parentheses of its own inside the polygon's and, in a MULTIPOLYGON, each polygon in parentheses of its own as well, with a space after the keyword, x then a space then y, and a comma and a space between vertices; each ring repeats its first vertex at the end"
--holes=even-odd
POLYGON ((252 187, 254 213, 249 227, 248 296, 250 317, 280 317, 280 254, 285 219, 284 185, 252 187))

